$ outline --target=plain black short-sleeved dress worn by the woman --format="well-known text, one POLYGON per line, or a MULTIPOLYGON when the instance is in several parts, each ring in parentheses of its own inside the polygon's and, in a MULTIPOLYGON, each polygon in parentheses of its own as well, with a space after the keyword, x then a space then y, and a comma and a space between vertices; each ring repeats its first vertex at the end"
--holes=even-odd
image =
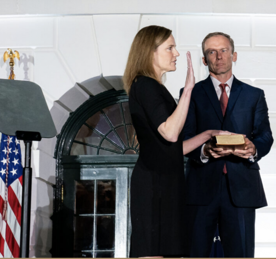
POLYGON ((157 130, 176 106, 168 90, 150 77, 140 76, 131 86, 129 109, 140 144, 130 187, 131 257, 186 251, 182 137, 169 142, 157 130))

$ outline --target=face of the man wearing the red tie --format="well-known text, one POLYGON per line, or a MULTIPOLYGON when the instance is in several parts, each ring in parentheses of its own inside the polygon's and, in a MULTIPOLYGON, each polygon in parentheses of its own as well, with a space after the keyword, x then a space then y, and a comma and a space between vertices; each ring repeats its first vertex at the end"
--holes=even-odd
POLYGON ((237 60, 237 52, 232 54, 230 41, 226 37, 217 35, 207 39, 204 52, 206 58, 203 57, 202 61, 212 76, 232 75, 232 62, 237 60))

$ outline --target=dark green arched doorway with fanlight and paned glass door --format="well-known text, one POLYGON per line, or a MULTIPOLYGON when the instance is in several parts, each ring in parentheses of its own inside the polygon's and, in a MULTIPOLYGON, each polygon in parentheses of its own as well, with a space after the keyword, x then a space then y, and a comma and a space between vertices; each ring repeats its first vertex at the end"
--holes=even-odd
POLYGON ((56 145, 53 257, 127 257, 138 152, 123 90, 91 96, 70 114, 56 145))

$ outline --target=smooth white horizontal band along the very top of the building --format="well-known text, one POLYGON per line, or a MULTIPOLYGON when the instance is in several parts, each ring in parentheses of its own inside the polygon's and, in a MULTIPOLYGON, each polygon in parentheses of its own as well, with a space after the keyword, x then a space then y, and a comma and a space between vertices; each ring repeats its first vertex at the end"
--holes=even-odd
POLYGON ((2 1, 0 15, 22 14, 121 14, 121 13, 271 13, 276 2, 271 0, 10 0, 2 1))

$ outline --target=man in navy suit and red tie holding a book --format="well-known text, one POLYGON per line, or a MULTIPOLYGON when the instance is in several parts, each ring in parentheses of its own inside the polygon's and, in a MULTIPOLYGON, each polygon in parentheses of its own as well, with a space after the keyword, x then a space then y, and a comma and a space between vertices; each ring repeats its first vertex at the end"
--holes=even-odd
POLYGON ((264 92, 233 76, 237 53, 229 35, 208 34, 202 51, 210 75, 195 84, 184 140, 205 130, 246 138, 243 150, 223 150, 209 141, 186 155, 187 201, 194 221, 190 257, 209 257, 217 225, 224 257, 254 257, 255 208, 267 205, 257 161, 273 143, 264 92))

